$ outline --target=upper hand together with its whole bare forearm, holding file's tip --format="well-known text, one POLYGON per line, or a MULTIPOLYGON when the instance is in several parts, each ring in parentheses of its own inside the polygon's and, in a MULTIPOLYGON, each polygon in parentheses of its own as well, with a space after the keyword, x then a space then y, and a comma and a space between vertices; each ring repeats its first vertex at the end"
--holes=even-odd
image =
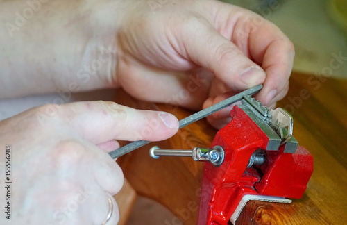
MULTIPOLYGON (((19 2, 4 1, 0 20, 19 2)), ((257 99, 273 107, 289 87, 293 44, 259 15, 227 3, 54 1, 30 22, 8 40, 0 35, 0 97, 121 86, 139 99, 200 110, 259 83, 257 99)), ((228 111, 210 123, 225 124, 228 111)))

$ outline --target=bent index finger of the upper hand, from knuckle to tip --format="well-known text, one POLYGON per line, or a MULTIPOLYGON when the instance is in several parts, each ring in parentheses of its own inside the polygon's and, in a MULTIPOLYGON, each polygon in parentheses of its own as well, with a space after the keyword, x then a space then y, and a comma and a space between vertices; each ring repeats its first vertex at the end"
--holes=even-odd
POLYGON ((258 99, 269 105, 288 81, 293 67, 294 45, 280 28, 260 15, 218 1, 214 4, 219 8, 215 19, 217 30, 265 70, 266 80, 258 99))

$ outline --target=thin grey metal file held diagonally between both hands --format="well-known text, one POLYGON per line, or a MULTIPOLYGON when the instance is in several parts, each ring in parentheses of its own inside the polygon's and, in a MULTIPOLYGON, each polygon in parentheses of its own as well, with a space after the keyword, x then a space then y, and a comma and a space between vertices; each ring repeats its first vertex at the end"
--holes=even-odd
MULTIPOLYGON (((235 94, 234 96, 223 100, 213 106, 210 106, 208 108, 205 108, 204 110, 199 111, 198 113, 194 113, 193 115, 190 115, 189 117, 186 117, 185 119, 180 120, 180 128, 183 128, 183 126, 187 126, 188 124, 192 124, 193 122, 198 121, 199 119, 202 119, 203 117, 207 117, 208 115, 211 115, 212 113, 215 113, 223 108, 226 108, 227 106, 232 105, 233 103, 236 103, 237 101, 242 100, 245 96, 255 94, 259 92, 262 89, 262 85, 256 85, 253 88, 249 88, 243 92, 240 92, 239 94, 235 94)), ((124 147, 121 147, 119 149, 116 149, 114 151, 111 151, 108 153, 112 158, 117 158, 119 156, 123 156, 126 153, 129 153, 130 151, 133 151, 135 149, 138 149, 139 147, 142 147, 146 144, 149 144, 150 142, 140 140, 137 142, 131 142, 130 144, 126 144, 124 147)))

